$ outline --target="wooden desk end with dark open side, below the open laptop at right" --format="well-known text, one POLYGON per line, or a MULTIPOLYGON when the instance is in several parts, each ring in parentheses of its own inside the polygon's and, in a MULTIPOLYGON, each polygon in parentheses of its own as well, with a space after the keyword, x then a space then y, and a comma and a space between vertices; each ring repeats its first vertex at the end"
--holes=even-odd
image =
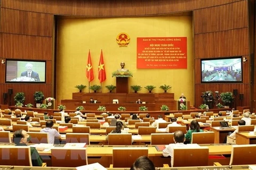
POLYGON ((235 128, 220 129, 220 127, 211 127, 210 131, 214 132, 214 143, 223 143, 227 138, 228 132, 234 132, 235 128))

